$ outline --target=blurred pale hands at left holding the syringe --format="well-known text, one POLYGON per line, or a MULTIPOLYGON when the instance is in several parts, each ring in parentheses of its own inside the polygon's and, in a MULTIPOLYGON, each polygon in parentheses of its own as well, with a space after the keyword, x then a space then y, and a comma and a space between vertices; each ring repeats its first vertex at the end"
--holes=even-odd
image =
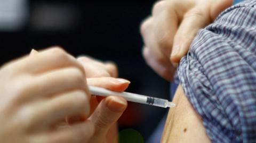
POLYGON ((87 89, 125 90, 130 82, 111 77, 116 75, 114 64, 77 60, 59 47, 32 51, 3 65, 1 142, 117 142, 115 123, 126 100, 97 100, 87 89), (101 72, 92 76, 94 70, 101 72))

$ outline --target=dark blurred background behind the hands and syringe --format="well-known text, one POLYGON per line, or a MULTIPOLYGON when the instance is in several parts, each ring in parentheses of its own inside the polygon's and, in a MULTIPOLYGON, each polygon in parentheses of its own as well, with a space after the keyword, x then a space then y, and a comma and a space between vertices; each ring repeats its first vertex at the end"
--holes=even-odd
MULTIPOLYGON (((1 64, 32 48, 59 45, 74 56, 114 61, 119 76, 131 81, 127 91, 169 98, 169 83, 141 56, 141 21, 154 1, 0 0, 1 64)), ((139 131, 145 141, 167 109, 129 103, 120 130, 139 131)))

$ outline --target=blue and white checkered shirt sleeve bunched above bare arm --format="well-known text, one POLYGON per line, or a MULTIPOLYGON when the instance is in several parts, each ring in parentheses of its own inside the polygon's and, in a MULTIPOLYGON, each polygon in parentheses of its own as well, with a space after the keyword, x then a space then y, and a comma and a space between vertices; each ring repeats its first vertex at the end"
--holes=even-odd
POLYGON ((256 142, 256 0, 200 30, 177 75, 212 142, 256 142))

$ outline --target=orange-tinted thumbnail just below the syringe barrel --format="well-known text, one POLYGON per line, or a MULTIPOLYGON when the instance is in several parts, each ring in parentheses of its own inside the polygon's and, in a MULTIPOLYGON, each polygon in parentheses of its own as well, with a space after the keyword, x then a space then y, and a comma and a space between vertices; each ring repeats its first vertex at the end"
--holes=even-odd
POLYGON ((112 112, 123 112, 127 106, 127 102, 124 98, 116 97, 116 96, 109 96, 106 100, 107 107, 112 112))

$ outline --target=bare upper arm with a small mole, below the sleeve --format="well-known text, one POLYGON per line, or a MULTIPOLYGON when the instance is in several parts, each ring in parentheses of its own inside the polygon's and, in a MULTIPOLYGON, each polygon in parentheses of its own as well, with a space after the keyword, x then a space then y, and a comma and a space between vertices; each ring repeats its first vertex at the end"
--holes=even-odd
POLYGON ((179 85, 170 108, 161 142, 211 142, 207 137, 201 117, 189 103, 179 85))

